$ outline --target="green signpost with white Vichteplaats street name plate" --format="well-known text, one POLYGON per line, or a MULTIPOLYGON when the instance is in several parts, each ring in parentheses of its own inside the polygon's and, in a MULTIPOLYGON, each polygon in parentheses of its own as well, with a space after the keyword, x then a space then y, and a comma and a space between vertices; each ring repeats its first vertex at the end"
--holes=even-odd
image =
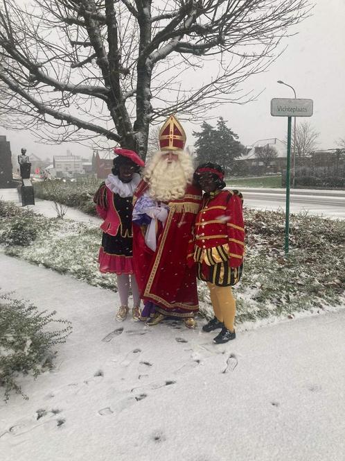
POLYGON ((274 98, 271 100, 273 117, 288 117, 288 152, 286 156, 286 200, 285 200, 285 255, 289 253, 290 220, 290 158, 291 158, 291 121, 292 117, 311 117, 312 99, 274 98))

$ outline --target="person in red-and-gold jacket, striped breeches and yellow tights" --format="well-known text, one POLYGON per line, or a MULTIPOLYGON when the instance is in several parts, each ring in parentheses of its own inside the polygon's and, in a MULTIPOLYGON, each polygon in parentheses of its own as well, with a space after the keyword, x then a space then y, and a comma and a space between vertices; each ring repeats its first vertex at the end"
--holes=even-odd
POLYGON ((188 258, 197 265, 197 278, 207 283, 215 317, 202 330, 222 328, 213 342, 221 344, 236 337, 236 301, 231 287, 242 275, 245 228, 242 194, 225 187, 220 165, 206 163, 195 171, 195 181, 206 191, 197 214, 194 248, 188 258))

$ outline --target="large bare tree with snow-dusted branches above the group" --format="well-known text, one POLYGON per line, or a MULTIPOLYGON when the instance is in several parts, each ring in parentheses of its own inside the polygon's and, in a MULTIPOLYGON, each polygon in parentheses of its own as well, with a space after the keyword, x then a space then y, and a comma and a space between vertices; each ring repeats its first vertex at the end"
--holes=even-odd
POLYGON ((103 137, 141 156, 154 121, 199 120, 252 99, 242 83, 267 69, 311 9, 310 0, 18 3, 0 8, 6 124, 51 142, 103 137))

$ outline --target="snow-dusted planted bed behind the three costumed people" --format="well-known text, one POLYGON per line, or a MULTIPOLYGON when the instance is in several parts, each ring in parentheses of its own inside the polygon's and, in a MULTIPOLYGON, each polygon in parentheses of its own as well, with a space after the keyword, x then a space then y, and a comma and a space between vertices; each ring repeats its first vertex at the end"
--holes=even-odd
MULTIPOLYGON (((0 243, 7 255, 116 291, 116 277, 98 271, 101 232, 96 224, 37 216, 6 202, 0 207, 0 243), (17 237, 22 226, 23 238, 30 233, 34 238, 11 241, 13 226, 17 237)), ((245 219, 245 269, 234 288, 238 324, 333 310, 344 303, 344 221, 292 215, 291 251, 285 258, 283 213, 246 209, 245 219)), ((204 283, 199 297, 202 314, 211 317, 204 283)))

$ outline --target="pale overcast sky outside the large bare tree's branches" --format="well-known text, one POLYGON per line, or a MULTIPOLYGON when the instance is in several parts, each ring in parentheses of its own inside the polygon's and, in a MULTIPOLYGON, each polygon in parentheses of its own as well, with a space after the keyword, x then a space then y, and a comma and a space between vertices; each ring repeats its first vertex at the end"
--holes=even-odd
MULTIPOLYGON (((257 101, 238 106, 221 106, 215 114, 229 121, 242 144, 278 137, 285 140, 287 119, 272 117, 269 113, 272 98, 292 98, 290 88, 276 83, 278 80, 292 85, 298 98, 314 101, 314 115, 308 120, 319 131, 319 149, 336 146, 339 137, 345 138, 345 0, 319 0, 312 17, 299 24, 299 34, 285 42, 288 49, 264 74, 253 76, 245 84, 245 90, 259 93, 257 101)), ((297 121, 303 121, 301 118, 297 121)), ((211 123, 213 123, 211 121, 211 123)), ((187 144, 193 144, 192 131, 198 126, 186 124, 187 144)), ((69 149, 76 155, 89 156, 91 151, 79 144, 46 146, 37 144, 28 132, 15 132, 0 127, 0 135, 6 135, 12 153, 26 146, 28 153, 46 156, 64 155, 69 149)))

